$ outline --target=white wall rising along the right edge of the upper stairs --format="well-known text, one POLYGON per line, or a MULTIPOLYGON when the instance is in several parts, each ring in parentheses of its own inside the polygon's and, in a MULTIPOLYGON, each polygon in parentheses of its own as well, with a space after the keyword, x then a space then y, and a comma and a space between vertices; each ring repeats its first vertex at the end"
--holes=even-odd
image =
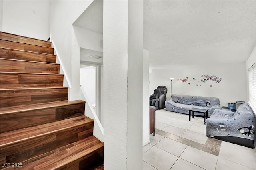
POLYGON ((50 34, 58 58, 71 82, 69 99, 80 99, 80 47, 72 24, 92 3, 86 1, 51 1, 50 34))

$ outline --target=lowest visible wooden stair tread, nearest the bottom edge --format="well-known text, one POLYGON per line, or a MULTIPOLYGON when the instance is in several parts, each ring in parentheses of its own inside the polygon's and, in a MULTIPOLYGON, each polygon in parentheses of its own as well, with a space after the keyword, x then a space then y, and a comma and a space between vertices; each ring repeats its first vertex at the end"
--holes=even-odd
POLYGON ((30 158, 22 162, 22 169, 58 169, 73 161, 81 160, 92 152, 103 149, 103 145, 104 143, 100 142, 96 137, 89 136, 72 144, 30 158))

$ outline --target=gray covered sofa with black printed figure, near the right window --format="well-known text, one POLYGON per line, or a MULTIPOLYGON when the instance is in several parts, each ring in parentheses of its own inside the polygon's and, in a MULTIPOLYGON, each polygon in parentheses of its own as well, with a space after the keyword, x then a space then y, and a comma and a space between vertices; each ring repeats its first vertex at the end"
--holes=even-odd
POLYGON ((254 147, 255 115, 246 103, 240 105, 236 112, 215 110, 206 119, 206 136, 254 147))

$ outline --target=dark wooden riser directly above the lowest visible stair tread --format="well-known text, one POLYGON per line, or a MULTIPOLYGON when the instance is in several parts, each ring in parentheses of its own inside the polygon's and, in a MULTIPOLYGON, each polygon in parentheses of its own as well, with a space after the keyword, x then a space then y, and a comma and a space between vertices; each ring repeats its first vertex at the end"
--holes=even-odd
MULTIPOLYGON (((0 148, 1 163, 16 163, 50 152, 56 148, 84 139, 93 134, 93 122, 64 128, 60 132, 52 132, 44 136, 27 139, 0 148), (26 156, 24 156, 26 155, 26 156)), ((22 134, 21 134, 22 135, 22 134)))

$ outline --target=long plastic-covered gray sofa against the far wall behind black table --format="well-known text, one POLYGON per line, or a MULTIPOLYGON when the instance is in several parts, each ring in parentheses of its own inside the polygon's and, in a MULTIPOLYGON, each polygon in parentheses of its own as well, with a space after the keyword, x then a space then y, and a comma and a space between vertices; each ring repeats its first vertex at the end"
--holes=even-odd
MULTIPOLYGON (((220 109, 220 100, 216 97, 188 96, 173 94, 169 101, 165 101, 165 107, 168 111, 189 114, 192 107, 207 109, 208 116, 212 115, 215 109, 220 109)), ((202 115, 194 113, 194 115, 202 115)))

